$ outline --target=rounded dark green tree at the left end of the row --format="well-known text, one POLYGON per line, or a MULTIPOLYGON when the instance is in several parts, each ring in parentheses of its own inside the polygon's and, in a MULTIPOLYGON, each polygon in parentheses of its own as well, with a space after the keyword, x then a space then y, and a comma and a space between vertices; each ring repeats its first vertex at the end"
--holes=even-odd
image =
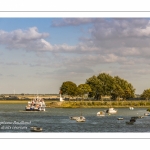
POLYGON ((71 81, 63 82, 60 91, 62 95, 66 94, 69 97, 74 97, 77 93, 77 85, 71 81))

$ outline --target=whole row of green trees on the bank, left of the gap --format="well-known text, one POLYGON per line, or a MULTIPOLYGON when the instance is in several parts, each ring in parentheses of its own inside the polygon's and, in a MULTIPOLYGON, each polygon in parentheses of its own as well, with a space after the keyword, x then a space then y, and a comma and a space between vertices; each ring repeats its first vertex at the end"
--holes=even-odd
POLYGON ((62 95, 70 97, 83 96, 100 100, 102 96, 111 96, 114 100, 133 98, 135 88, 128 81, 109 74, 101 73, 98 76, 92 76, 84 84, 76 85, 72 81, 63 82, 60 91, 62 95))

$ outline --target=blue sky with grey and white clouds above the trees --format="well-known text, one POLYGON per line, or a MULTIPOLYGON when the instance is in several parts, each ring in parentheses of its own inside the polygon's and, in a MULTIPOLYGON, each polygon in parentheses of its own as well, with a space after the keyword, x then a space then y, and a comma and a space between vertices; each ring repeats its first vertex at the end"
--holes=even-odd
POLYGON ((149 18, 0 18, 0 94, 58 94, 100 73, 150 88, 149 18))

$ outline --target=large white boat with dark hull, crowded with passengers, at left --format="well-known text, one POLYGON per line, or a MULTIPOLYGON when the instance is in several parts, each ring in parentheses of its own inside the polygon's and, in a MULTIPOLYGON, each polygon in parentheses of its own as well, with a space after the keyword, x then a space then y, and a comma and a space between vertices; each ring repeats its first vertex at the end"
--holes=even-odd
POLYGON ((25 107, 26 111, 45 111, 45 102, 42 98, 39 98, 38 96, 29 101, 28 105, 25 107))

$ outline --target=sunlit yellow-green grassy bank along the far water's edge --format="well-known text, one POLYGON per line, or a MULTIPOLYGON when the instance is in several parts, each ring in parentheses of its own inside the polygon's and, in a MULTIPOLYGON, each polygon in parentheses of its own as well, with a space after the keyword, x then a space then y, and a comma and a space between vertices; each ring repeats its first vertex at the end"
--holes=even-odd
MULTIPOLYGON (((28 100, 0 100, 0 104, 27 104, 28 100)), ((47 107, 55 108, 105 108, 105 107, 147 107, 150 101, 45 101, 47 107)))

